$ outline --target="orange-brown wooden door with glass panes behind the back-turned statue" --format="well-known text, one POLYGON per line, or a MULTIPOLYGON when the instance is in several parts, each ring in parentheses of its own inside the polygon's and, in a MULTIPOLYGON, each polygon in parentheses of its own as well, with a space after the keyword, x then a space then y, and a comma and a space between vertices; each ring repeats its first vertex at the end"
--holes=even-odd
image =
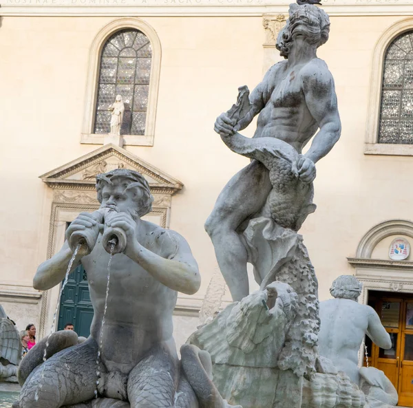
POLYGON ((413 407, 413 297, 377 292, 369 294, 369 304, 379 314, 392 340, 389 350, 370 342, 370 365, 383 370, 392 381, 399 393, 398 405, 413 407))

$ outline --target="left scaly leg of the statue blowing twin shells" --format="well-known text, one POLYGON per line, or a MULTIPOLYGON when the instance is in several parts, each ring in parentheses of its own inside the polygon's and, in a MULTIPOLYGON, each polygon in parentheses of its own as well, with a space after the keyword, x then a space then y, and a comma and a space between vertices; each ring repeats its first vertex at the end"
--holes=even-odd
POLYGON ((91 400, 96 387, 97 353, 96 342, 88 339, 54 354, 25 381, 18 407, 59 408, 91 400))

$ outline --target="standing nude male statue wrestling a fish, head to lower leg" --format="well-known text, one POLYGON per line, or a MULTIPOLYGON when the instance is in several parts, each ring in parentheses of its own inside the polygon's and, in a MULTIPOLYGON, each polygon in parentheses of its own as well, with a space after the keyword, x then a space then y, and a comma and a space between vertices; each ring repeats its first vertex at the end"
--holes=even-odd
MULTIPOLYGON (((326 63, 317 58, 317 47, 328 40, 330 21, 324 10, 303 3, 300 0, 300 4, 290 5, 288 21, 277 38, 277 49, 286 60, 268 70, 262 83, 249 96, 248 106, 242 109, 240 118, 224 113, 215 122, 215 131, 233 151, 257 159, 226 184, 205 226, 235 301, 248 295, 248 254, 240 234, 248 220, 262 211, 269 193, 277 185, 277 176, 271 178, 268 165, 251 153, 251 149, 247 153, 233 149, 231 140, 242 139, 237 132, 245 129, 259 114, 253 140, 256 144, 260 138, 263 142, 277 140, 281 147, 276 149, 281 154, 283 144, 284 150, 293 148, 297 158, 287 173, 291 180, 298 178, 297 188, 307 185, 312 195, 310 184, 315 179, 315 163, 332 149, 341 133, 334 80, 326 63), (313 136, 310 149, 301 155, 313 136)), ((254 149, 260 153, 268 151, 265 146, 254 149)), ((277 197, 273 199, 277 201, 277 197)), ((288 211, 289 203, 278 203, 278 208, 283 206, 284 211, 288 211)), ((314 209, 308 213, 312 211, 314 209)), ((297 226, 297 230, 299 225, 295 220, 291 228, 297 226)))

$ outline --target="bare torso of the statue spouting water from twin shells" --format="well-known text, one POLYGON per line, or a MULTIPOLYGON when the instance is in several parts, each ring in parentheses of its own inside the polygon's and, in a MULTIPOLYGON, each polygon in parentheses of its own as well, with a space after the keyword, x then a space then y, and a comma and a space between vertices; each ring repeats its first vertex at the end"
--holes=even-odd
MULTIPOLYGON (((167 258, 171 232, 150 222, 140 221, 139 242, 160 257, 167 258)), ((100 328, 105 309, 109 254, 101 244, 102 235, 90 255, 81 263, 87 271, 89 291, 94 306, 91 336, 100 343, 100 328)), ((172 338, 172 314, 177 292, 154 279, 135 261, 124 255, 112 258, 101 358, 107 369, 128 374, 150 349, 163 344, 176 356, 172 338), (113 339, 119 344, 112 344, 113 339)), ((176 357, 177 358, 177 357, 176 357)))

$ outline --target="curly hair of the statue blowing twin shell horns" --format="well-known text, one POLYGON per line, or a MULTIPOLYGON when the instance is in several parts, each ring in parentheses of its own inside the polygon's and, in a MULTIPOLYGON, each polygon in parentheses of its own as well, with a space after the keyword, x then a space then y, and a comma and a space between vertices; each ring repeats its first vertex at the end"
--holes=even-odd
POLYGON ((153 195, 149 189, 149 184, 138 171, 129 169, 114 169, 107 173, 96 175, 96 191, 98 192, 98 202, 102 202, 102 190, 105 185, 113 185, 114 179, 124 179, 125 191, 134 192, 134 202, 136 210, 132 211, 133 217, 143 217, 152 210, 153 195), (137 191, 142 192, 138 194, 137 191))

